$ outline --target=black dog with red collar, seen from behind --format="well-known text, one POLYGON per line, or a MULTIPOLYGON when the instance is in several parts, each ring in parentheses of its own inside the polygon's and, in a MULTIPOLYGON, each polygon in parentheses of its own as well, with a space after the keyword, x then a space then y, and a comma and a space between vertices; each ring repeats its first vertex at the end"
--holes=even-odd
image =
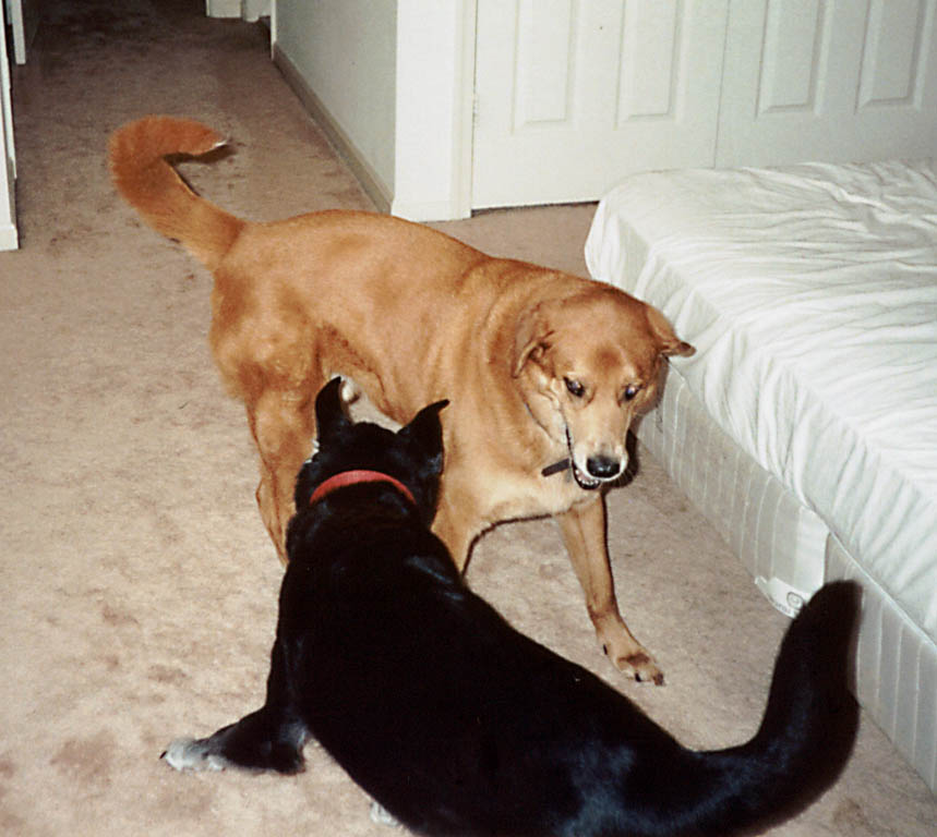
POLYGON ((748 743, 686 750, 463 583, 429 529, 444 404, 394 434, 352 424, 337 379, 319 395, 266 704, 173 741, 173 767, 293 773, 314 736, 413 830, 510 837, 734 834, 830 780, 854 731, 854 586, 828 585, 791 626, 748 743))

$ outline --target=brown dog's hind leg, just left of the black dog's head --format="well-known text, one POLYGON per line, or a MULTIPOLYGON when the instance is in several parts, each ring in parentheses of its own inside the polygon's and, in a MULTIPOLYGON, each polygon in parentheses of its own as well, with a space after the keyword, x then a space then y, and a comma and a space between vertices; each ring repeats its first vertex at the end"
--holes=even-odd
POLYGON ((286 529, 296 510, 296 477, 312 450, 315 421, 308 399, 275 390, 263 392, 248 408, 248 421, 261 456, 257 506, 280 561, 286 563, 286 529))

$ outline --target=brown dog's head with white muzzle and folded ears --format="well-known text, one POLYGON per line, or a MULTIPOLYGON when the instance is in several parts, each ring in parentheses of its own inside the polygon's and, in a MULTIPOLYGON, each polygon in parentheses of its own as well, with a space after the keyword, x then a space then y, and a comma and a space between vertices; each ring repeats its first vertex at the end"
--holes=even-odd
POLYGON ((694 351, 657 308, 596 284, 521 315, 512 372, 533 417, 565 441, 576 482, 597 488, 628 463, 628 425, 653 403, 661 357, 694 351))

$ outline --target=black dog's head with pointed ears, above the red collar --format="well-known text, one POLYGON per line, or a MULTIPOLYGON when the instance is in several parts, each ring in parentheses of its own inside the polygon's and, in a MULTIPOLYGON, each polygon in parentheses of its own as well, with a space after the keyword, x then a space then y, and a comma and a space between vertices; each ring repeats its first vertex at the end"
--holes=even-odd
POLYGON ((370 422, 351 422, 343 409, 340 390, 341 379, 333 378, 316 396, 319 449, 299 473, 297 509, 307 508, 313 492, 329 477, 367 470, 403 483, 429 525, 443 470, 440 410, 448 401, 424 407, 406 427, 394 433, 370 422))

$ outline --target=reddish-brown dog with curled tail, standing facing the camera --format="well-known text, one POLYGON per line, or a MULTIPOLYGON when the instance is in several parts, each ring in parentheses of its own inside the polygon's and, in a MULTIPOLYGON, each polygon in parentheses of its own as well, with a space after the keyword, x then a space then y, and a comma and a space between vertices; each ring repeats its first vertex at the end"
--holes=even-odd
POLYGON ((313 399, 331 376, 352 378, 400 423, 447 398, 434 530, 458 567, 498 521, 554 515, 603 650, 618 669, 661 682, 618 615, 597 489, 624 472, 628 424, 652 402, 661 357, 693 347, 615 288, 492 258, 397 218, 235 218, 165 159, 220 145, 197 122, 147 117, 115 133, 110 165, 143 218, 215 275, 212 350, 247 405, 257 504, 280 556, 313 399))

